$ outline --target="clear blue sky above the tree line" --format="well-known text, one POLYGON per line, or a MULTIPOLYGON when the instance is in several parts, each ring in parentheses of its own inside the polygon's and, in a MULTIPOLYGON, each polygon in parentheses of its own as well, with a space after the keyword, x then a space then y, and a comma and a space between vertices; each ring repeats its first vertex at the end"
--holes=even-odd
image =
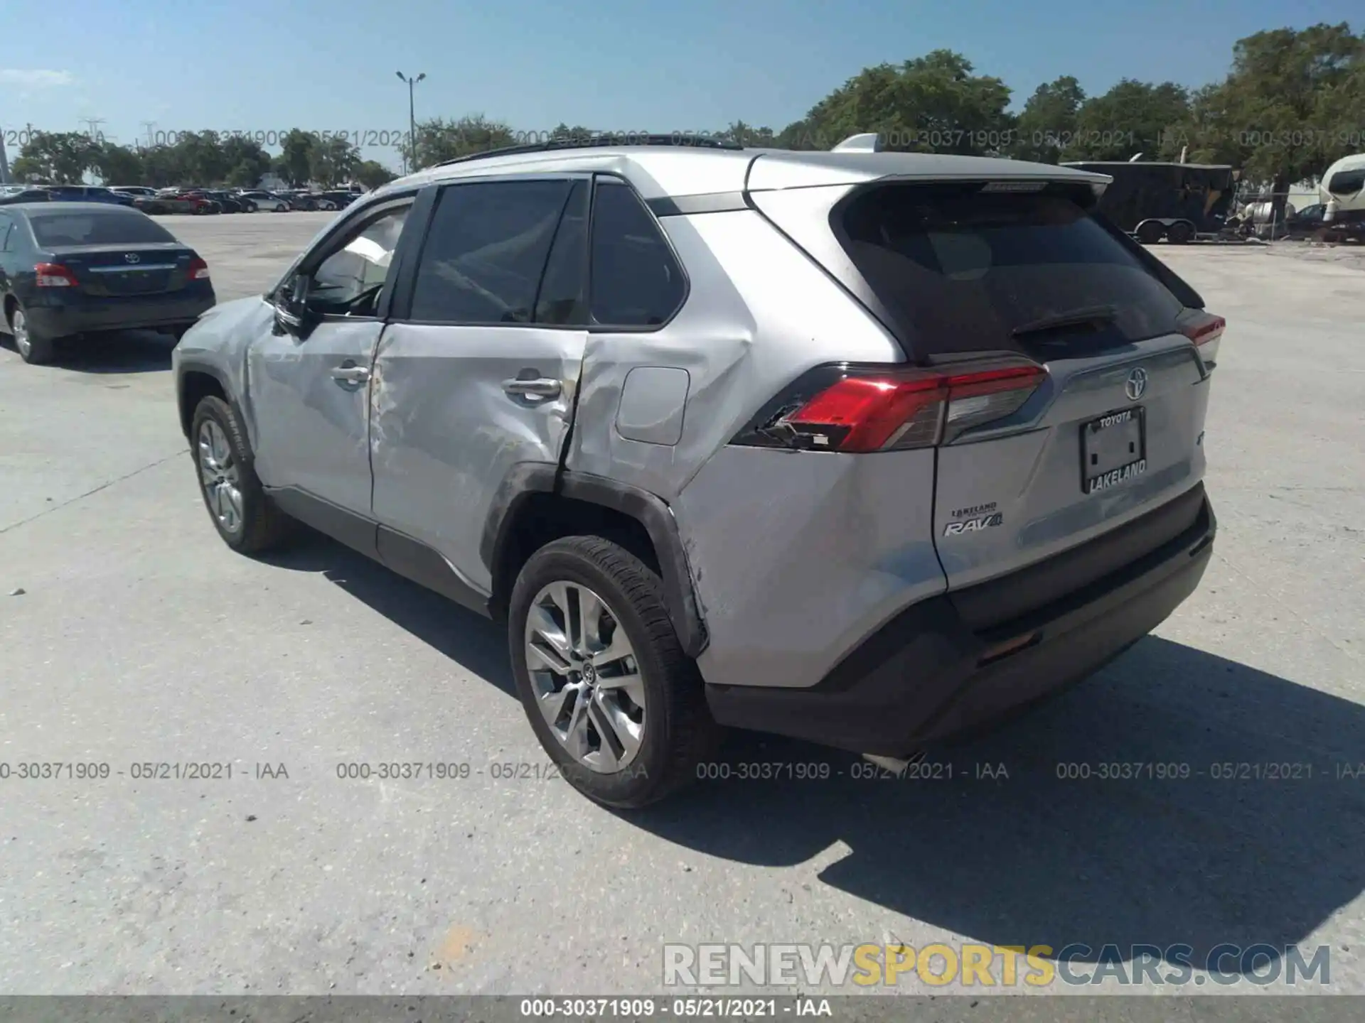
MULTIPOLYGON (((863 67, 931 49, 1014 89, 1073 74, 1198 86, 1233 42, 1271 27, 1353 20, 1361 0, 60 0, 0 4, 0 128, 85 117, 119 142, 173 130, 397 134, 485 113, 523 131, 781 128, 863 67)), ((392 149, 366 155, 397 166, 392 149)))

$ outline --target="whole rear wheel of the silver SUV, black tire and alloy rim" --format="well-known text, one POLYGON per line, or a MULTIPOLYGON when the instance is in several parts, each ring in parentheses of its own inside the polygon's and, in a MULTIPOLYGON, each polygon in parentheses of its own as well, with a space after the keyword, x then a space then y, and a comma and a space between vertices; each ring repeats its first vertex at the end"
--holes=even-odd
POLYGON ((526 563, 508 614, 512 670, 536 738, 606 806, 658 802, 696 777, 718 728, 657 573, 601 536, 526 563))

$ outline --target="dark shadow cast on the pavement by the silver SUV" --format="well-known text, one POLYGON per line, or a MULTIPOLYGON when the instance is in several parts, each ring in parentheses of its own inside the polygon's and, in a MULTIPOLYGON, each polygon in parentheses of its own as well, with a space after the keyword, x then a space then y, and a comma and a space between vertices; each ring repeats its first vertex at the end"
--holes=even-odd
MULTIPOLYGON (((272 561, 322 572, 515 696, 491 622, 322 537, 272 561)), ((1200 966, 1222 943, 1299 943, 1365 889, 1361 761, 1361 705, 1148 637, 919 776, 736 732, 714 777, 622 818, 753 866, 834 855, 823 884, 972 940, 1081 943, 1077 963, 1186 944, 1200 966)))

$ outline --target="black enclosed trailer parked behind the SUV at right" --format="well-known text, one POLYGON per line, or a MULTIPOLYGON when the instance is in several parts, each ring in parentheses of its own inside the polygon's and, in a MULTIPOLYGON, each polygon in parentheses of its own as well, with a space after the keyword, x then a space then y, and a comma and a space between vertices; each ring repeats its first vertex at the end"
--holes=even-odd
POLYGON ((1144 244, 1183 244, 1222 231, 1239 170, 1226 164, 1082 161, 1063 164, 1108 175, 1100 211, 1144 244))

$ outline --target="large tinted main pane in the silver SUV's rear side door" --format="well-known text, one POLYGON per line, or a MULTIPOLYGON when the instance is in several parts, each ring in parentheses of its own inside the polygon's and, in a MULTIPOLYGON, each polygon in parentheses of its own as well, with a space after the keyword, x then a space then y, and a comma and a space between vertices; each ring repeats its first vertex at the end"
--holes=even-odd
POLYGON ((412 319, 530 323, 569 186, 528 180, 446 187, 418 263, 412 319))

